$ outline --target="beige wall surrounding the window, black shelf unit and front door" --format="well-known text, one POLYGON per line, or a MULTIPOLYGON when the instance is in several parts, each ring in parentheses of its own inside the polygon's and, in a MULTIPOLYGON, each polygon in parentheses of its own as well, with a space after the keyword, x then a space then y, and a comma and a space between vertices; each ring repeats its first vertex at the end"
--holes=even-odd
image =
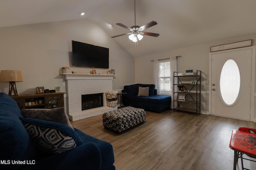
MULTIPOLYGON (((223 39, 220 41, 208 42, 200 45, 184 47, 180 49, 170 50, 163 53, 157 53, 135 58, 135 83, 154 83, 153 82, 153 62, 154 59, 166 59, 169 57, 182 56, 178 58, 178 71, 186 72, 186 70, 201 70, 202 71, 202 96, 201 110, 202 113, 209 113, 208 98, 209 98, 209 53, 210 47, 221 45, 224 43, 233 43, 248 39, 256 39, 256 33, 223 39)), ((253 45, 255 45, 253 41, 253 45)), ((255 88, 256 89, 256 88, 255 88)), ((254 96, 256 96, 254 94, 254 96)), ((255 110, 255 109, 254 109, 255 110)), ((256 113, 254 113, 256 115, 256 113)))

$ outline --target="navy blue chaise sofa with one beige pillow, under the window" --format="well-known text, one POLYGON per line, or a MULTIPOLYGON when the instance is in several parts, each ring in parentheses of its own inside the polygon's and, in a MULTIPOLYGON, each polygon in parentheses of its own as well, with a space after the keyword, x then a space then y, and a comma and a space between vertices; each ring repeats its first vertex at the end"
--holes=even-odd
POLYGON ((124 86, 122 92, 125 106, 142 108, 148 111, 160 113, 171 107, 171 96, 157 95, 154 84, 132 84, 124 86), (139 87, 149 87, 148 96, 138 96, 139 87))

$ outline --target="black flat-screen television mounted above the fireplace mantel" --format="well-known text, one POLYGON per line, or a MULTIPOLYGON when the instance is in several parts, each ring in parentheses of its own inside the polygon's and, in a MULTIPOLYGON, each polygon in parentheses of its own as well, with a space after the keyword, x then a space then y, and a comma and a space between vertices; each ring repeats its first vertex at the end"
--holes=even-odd
POLYGON ((109 49, 72 40, 72 65, 109 68, 109 49))

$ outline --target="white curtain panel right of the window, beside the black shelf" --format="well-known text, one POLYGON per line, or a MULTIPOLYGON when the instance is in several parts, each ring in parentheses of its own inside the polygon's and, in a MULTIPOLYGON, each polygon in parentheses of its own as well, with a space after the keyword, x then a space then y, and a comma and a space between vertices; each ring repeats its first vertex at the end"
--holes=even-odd
MULTIPOLYGON (((176 108, 177 107, 177 102, 175 102, 175 106, 173 106, 173 101, 176 99, 176 98, 178 98, 178 95, 176 94, 176 95, 174 95, 174 91, 177 91, 177 89, 175 89, 174 91, 173 91, 173 84, 174 83, 177 83, 177 82, 173 82, 173 72, 174 71, 177 71, 177 65, 178 65, 178 63, 177 63, 177 57, 170 57, 170 75, 171 75, 171 96, 172 96, 172 102, 171 102, 171 108, 172 109, 174 109, 174 108, 176 108)), ((177 86, 175 86, 175 88, 177 88, 177 86)))

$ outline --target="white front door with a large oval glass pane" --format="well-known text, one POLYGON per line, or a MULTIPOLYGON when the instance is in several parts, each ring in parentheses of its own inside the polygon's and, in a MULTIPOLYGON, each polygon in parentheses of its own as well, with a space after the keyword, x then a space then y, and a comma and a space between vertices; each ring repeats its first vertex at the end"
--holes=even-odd
POLYGON ((250 120, 253 56, 255 47, 210 53, 211 114, 250 120))

